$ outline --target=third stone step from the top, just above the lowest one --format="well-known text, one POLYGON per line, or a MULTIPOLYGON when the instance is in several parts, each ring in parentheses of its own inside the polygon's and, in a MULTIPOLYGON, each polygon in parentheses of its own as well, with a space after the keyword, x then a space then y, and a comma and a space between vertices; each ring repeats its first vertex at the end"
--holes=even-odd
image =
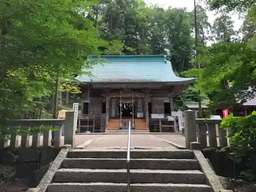
MULTIPOLYGON (((131 169, 131 183, 205 184, 206 177, 199 170, 131 169)), ((127 182, 126 169, 61 168, 54 182, 127 182)))

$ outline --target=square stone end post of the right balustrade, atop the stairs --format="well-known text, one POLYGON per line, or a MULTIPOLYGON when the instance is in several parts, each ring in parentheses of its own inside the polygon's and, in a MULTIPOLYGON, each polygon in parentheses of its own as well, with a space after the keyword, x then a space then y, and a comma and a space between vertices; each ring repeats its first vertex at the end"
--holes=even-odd
POLYGON ((186 148, 189 148, 190 142, 197 142, 196 113, 193 110, 184 112, 184 133, 186 148))

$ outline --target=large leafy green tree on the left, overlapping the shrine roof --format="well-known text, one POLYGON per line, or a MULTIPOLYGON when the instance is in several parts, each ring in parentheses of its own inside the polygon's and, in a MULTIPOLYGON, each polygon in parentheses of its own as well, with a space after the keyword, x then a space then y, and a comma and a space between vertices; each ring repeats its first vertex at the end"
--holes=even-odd
POLYGON ((0 119, 33 118, 28 112, 51 99, 93 63, 85 58, 110 48, 82 11, 93 1, 0 2, 0 119), (80 11, 81 10, 81 11, 80 11))

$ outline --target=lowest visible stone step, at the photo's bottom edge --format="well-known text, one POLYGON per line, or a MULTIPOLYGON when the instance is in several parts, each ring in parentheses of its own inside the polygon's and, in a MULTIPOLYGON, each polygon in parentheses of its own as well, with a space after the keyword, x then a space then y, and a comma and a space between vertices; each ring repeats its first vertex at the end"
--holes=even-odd
MULTIPOLYGON (((52 183, 48 192, 127 192, 126 183, 52 183)), ((200 184, 131 184, 131 192, 214 192, 200 184)))

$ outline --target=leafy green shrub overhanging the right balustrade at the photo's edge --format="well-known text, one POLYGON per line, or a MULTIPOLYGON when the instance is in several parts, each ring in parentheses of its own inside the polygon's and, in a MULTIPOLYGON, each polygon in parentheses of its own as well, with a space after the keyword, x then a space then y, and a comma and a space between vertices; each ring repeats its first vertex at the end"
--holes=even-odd
POLYGON ((241 175, 249 180, 256 176, 256 112, 246 117, 233 117, 230 114, 224 118, 221 128, 233 130, 234 134, 228 136, 231 142, 231 157, 236 162, 243 162, 245 169, 241 175))

